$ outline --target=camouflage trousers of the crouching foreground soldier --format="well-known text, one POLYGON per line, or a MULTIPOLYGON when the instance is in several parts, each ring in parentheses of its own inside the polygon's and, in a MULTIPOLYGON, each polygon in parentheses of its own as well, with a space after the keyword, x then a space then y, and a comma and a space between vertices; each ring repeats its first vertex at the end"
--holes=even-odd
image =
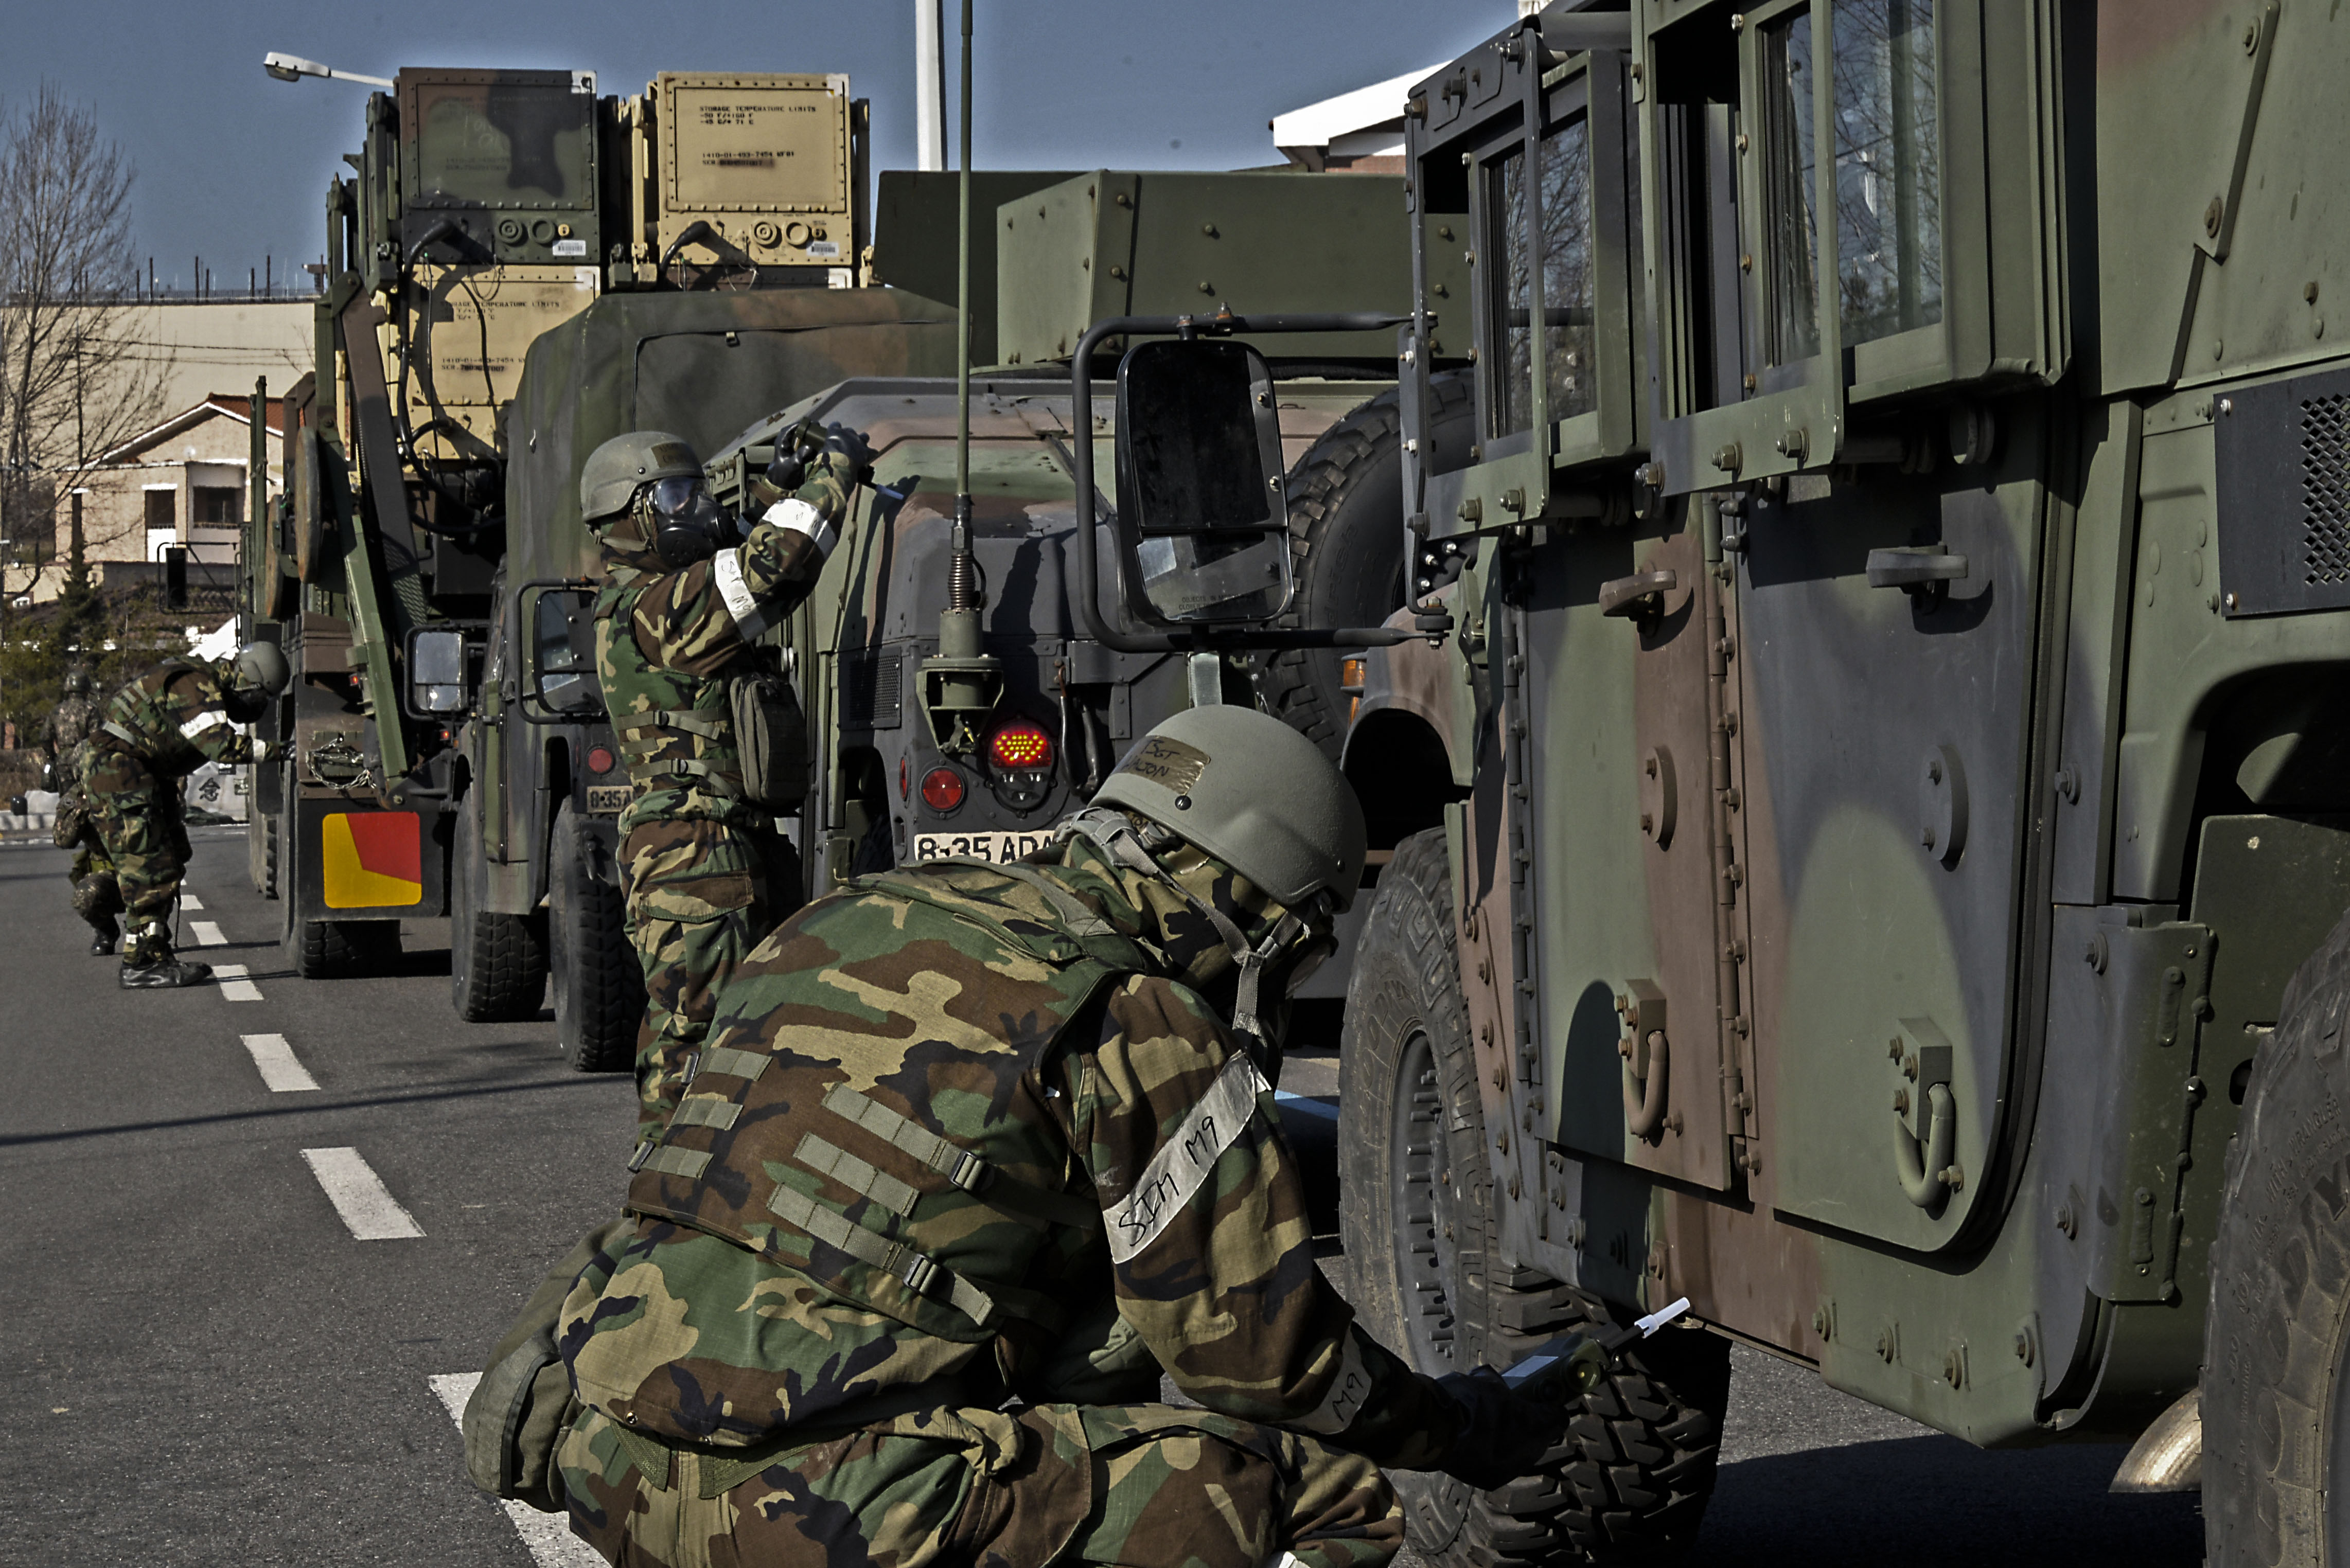
POLYGON ((590 1408, 557 1465, 616 1568, 1377 1568, 1403 1544, 1370 1460, 1175 1406, 928 1410, 752 1460, 590 1408))

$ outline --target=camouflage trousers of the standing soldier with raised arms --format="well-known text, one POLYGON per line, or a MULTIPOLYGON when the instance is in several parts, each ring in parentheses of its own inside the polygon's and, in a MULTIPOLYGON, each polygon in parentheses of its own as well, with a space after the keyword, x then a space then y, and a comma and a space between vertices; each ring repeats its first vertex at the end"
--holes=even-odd
POLYGON ((637 1135, 677 1110, 719 990, 787 907, 771 891, 773 835, 700 816, 637 823, 620 839, 627 940, 644 969, 637 1030, 637 1135))

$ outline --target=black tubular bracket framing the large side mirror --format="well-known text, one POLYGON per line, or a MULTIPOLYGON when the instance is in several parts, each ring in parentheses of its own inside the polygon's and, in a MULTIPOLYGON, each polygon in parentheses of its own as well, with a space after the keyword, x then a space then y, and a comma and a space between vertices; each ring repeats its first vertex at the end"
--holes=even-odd
POLYGON ((1086 336, 1076 341, 1076 355, 1069 364, 1069 423, 1083 418, 1083 430, 1072 430, 1076 437, 1069 454, 1076 468, 1076 618, 1086 628, 1086 635, 1100 642, 1114 654, 1173 654, 1194 649, 1384 649, 1398 642, 1412 642, 1424 632, 1391 628, 1391 625, 1342 625, 1328 630, 1283 630, 1283 632, 1126 632, 1107 621, 1102 621, 1102 562, 1093 543, 1095 512, 1093 512, 1093 350, 1102 339, 1112 336, 1227 336, 1234 331, 1382 331, 1386 327, 1401 327, 1412 317, 1389 315, 1384 310, 1342 310, 1325 315, 1309 313, 1278 313, 1278 315, 1231 315, 1231 310, 1217 310, 1215 315, 1112 315, 1086 329, 1086 336), (1079 416, 1083 409, 1083 416, 1079 416))

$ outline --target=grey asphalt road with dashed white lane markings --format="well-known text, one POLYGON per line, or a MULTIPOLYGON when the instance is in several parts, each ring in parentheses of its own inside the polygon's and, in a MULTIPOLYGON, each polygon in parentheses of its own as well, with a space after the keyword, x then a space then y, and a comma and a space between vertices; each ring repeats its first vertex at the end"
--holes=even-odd
MULTIPOLYGON (((66 858, 0 849, 0 1563, 592 1563, 465 1483, 435 1378, 477 1373, 616 1206, 627 1079, 569 1072, 550 1018, 458 1023, 444 922, 392 976, 298 980, 242 837, 195 837, 186 950, 254 999, 118 990, 66 858), (329 1180, 414 1234, 357 1239, 329 1180)), ((1335 1157, 1323 1117, 1288 1121, 1335 1157)), ((1981 1453, 1744 1349, 1723 1460, 1706 1563, 2202 1561, 2195 1497, 2106 1493, 2117 1448, 1981 1453)))

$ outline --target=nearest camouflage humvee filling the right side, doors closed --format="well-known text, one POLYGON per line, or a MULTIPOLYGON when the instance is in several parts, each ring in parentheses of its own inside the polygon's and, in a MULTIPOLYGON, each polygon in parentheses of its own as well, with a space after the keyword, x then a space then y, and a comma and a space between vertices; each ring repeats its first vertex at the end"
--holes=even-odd
POLYGON ((1685 1547, 1732 1342, 2350 1556, 2345 63, 1633 0, 1412 89, 1354 1300, 1426 1371, 1694 1305, 1542 1472, 1401 1476, 1431 1559, 1685 1547))

